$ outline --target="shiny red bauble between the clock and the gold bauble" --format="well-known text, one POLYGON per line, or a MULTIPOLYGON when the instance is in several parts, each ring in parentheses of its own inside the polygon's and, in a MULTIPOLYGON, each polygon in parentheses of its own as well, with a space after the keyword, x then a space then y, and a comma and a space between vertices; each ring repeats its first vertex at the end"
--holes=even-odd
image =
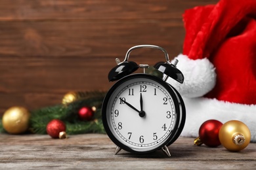
POLYGON ((219 130, 223 124, 218 120, 207 120, 203 122, 199 129, 200 141, 209 146, 216 147, 221 144, 219 141, 219 130))

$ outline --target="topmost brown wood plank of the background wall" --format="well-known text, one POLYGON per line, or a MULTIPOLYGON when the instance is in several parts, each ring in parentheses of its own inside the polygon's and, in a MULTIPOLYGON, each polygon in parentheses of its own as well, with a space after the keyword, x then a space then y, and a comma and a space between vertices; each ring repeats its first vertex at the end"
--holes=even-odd
POLYGON ((215 3, 217 0, 1 0, 0 20, 181 18, 185 9, 215 3))

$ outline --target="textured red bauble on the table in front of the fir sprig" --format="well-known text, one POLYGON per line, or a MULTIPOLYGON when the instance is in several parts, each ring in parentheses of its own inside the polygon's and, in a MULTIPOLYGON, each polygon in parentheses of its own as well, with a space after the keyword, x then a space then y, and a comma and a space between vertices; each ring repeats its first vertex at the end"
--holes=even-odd
POLYGON ((58 138, 60 132, 66 131, 66 125, 61 120, 54 119, 47 124, 46 131, 51 137, 58 138))

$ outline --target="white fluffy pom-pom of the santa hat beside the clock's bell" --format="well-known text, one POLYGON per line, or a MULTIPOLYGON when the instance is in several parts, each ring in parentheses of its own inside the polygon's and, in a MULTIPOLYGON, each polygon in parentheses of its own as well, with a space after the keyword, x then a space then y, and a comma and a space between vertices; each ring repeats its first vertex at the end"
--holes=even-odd
POLYGON ((168 78, 171 84, 184 97, 200 97, 210 92, 216 83, 216 73, 213 64, 207 58, 189 59, 188 56, 180 54, 177 56, 179 63, 177 68, 184 75, 184 82, 168 78))

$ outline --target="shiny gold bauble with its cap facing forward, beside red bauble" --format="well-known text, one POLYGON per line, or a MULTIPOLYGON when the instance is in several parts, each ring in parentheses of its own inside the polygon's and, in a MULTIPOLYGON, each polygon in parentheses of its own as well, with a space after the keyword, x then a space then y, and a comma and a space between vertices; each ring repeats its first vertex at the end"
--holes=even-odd
POLYGON ((243 122, 230 120, 221 127, 219 140, 227 150, 239 151, 249 144, 251 132, 243 122))

